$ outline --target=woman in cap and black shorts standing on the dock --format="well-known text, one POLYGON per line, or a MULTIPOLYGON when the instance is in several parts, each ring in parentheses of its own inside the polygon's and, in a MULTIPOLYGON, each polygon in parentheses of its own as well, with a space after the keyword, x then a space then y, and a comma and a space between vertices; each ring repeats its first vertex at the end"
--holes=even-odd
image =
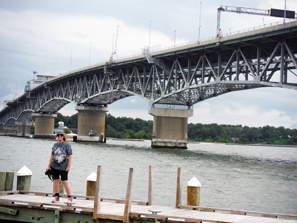
POLYGON ((50 169, 52 172, 53 190, 55 195, 55 198, 53 199, 52 203, 60 202, 59 181, 61 176, 62 183, 68 195, 67 203, 72 204, 71 187, 68 182, 68 172, 70 170, 71 165, 72 149, 69 142, 67 142, 66 140, 65 133, 63 130, 57 130, 56 134, 58 142, 56 142, 52 147, 51 156, 49 159, 49 167, 47 169, 50 169))

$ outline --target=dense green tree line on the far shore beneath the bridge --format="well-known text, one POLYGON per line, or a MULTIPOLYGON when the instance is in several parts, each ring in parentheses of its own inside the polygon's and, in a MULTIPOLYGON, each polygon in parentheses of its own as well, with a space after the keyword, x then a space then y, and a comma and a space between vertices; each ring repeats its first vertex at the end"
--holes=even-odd
MULTIPOLYGON (((77 132, 78 113, 63 116, 57 112, 54 126, 63 121, 64 125, 77 132)), ((151 139, 153 121, 141 118, 114 117, 109 113, 105 116, 105 137, 118 139, 151 139)), ((277 144, 297 145, 297 129, 285 127, 248 127, 226 124, 188 124, 188 140, 192 142, 221 142, 240 144, 277 144)))

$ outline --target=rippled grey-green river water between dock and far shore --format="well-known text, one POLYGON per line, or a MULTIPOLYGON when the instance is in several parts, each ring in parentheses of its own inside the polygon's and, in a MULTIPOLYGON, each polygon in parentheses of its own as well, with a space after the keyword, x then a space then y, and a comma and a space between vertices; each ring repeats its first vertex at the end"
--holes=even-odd
MULTIPOLYGON (((0 136, 0 171, 32 172, 31 191, 52 192, 45 175, 56 140, 0 136)), ((148 200, 148 167, 153 167, 154 205, 175 207, 177 168, 182 204, 187 182, 201 183, 200 206, 297 215, 297 148, 188 144, 187 150, 152 149, 150 142, 70 142, 69 182, 73 195, 86 195, 87 177, 102 166, 104 198, 125 199, 129 167, 134 168, 133 200, 148 200)))

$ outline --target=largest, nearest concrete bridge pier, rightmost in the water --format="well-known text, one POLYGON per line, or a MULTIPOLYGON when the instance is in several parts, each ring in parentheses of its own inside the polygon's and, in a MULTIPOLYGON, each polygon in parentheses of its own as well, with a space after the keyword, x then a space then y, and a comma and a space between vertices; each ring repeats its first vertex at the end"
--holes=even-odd
POLYGON ((193 110, 148 108, 153 115, 152 148, 187 149, 188 118, 193 110))

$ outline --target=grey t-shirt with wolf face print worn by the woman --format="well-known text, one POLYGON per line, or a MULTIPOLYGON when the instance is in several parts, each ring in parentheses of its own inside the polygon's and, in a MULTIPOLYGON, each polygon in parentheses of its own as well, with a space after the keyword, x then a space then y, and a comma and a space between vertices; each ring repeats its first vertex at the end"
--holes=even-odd
POLYGON ((51 154, 53 155, 53 159, 50 163, 50 167, 59 170, 66 170, 68 167, 68 156, 72 155, 70 144, 66 142, 56 142, 52 147, 51 154))

